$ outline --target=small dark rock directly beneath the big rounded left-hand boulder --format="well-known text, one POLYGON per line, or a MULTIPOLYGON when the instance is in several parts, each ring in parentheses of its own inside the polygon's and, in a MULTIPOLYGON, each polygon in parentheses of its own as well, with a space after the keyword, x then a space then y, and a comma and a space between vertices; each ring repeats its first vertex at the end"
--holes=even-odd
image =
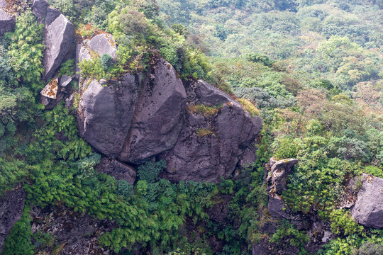
POLYGON ((128 183, 135 182, 135 169, 133 167, 118 162, 116 159, 102 157, 100 164, 96 166, 99 173, 109 174, 116 178, 116 180, 125 180, 128 183))

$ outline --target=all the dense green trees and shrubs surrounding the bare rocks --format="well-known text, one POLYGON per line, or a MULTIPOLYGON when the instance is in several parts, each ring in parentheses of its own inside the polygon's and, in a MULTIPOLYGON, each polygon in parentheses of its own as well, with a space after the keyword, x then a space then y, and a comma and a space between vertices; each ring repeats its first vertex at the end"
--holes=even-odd
MULTIPOLYGON (((77 39, 100 31, 116 39, 117 62, 85 60, 82 77, 138 74, 161 56, 184 81, 205 79, 262 119, 257 161, 239 177, 171 183, 159 177, 166 162, 157 161, 138 166, 133 185, 94 169, 101 155, 79 137, 78 81, 70 84, 74 108, 45 111, 40 103, 44 26, 30 4, 0 37, 0 193, 23 183, 28 205, 3 254, 60 252, 55 237, 31 232, 33 205, 113 220, 118 227, 98 240, 121 254, 137 244, 148 254, 251 254, 263 240, 274 252, 291 245, 309 254, 307 233, 287 220, 274 234, 262 232, 270 157, 299 159, 282 198, 331 226, 334 238, 318 254, 383 253, 383 231, 358 225, 340 205, 355 176, 383 178, 382 0, 49 1, 77 39), (226 220, 210 220, 209 208, 225 199, 226 220)), ((58 76, 74 72, 72 56, 58 76)))

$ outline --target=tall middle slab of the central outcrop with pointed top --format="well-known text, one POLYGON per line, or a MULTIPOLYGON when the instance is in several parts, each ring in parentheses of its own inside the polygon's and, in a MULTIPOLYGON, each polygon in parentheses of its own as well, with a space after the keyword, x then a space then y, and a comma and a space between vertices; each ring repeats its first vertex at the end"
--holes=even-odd
POLYGON ((183 124, 186 93, 174 68, 159 60, 143 81, 131 130, 119 159, 135 164, 171 149, 183 124))

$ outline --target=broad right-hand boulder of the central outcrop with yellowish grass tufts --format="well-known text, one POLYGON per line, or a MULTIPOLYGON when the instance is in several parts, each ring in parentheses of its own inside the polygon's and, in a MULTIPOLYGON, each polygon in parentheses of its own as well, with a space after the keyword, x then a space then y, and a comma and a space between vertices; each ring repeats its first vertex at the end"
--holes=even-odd
POLYGON ((220 181, 235 170, 245 149, 262 128, 237 101, 205 81, 187 84, 189 111, 176 145, 160 155, 167 162, 164 177, 170 181, 220 181), (190 109, 203 106, 216 112, 190 109))

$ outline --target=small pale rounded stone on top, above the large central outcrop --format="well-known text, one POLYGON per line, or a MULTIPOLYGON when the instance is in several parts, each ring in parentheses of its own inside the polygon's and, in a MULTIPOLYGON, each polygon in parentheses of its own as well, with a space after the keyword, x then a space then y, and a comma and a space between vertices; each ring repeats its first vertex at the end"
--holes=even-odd
POLYGON ((100 57, 104 54, 109 54, 113 60, 117 60, 117 47, 113 36, 109 33, 101 33, 91 38, 87 45, 91 50, 94 50, 100 57))

